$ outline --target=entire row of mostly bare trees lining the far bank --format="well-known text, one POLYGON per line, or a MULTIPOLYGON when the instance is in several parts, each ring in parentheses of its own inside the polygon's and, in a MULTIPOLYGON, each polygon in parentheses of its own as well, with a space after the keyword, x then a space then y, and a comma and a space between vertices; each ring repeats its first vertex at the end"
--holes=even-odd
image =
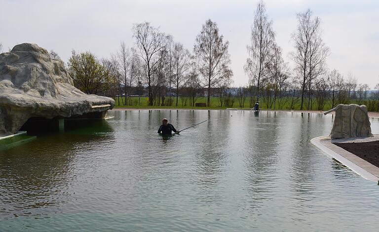
MULTIPOLYGON (((343 78, 326 66, 330 49, 322 39, 320 18, 308 9, 297 14, 297 22, 292 34, 294 50, 289 54, 294 67, 290 69, 276 42, 265 4, 262 0, 258 3, 244 65, 249 84, 233 93, 239 105, 244 107, 249 99, 250 107, 262 101, 267 108, 300 105, 301 110, 312 110, 322 109, 329 101, 335 106, 350 99, 366 99, 367 84, 358 85, 353 75, 343 78)), ((207 20, 202 25, 192 51, 148 22, 133 25, 132 32, 134 45, 129 48, 121 42, 110 59, 73 51, 68 66, 81 90, 105 94, 104 90, 113 89, 108 94, 124 96, 120 98, 124 105, 131 104, 128 96, 141 96, 144 89, 149 105, 178 106, 179 96, 191 99, 194 105, 204 94, 208 106, 211 96, 218 96, 221 106, 227 104, 233 75, 229 42, 215 22, 207 20)))

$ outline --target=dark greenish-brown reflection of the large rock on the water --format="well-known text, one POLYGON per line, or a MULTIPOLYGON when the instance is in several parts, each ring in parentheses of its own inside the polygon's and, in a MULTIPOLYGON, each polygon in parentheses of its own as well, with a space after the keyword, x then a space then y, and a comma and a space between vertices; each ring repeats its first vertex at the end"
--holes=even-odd
POLYGON ((69 185, 76 178, 77 149, 91 150, 113 139, 105 120, 68 120, 66 126, 67 133, 38 136, 2 152, 0 219, 36 215, 40 207, 66 201, 72 194, 67 192, 69 185))

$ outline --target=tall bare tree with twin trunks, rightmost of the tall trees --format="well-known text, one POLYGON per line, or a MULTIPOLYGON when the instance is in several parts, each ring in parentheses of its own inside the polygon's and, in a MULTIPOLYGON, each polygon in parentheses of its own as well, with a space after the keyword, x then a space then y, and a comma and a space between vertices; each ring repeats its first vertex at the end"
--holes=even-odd
POLYGON ((302 77, 300 109, 303 110, 306 90, 308 90, 308 109, 310 109, 312 81, 325 71, 329 48, 325 46, 321 38, 320 19, 312 18, 310 9, 304 13, 298 13, 297 18, 298 27, 292 34, 295 51, 291 53, 291 57, 295 62, 295 71, 302 77))

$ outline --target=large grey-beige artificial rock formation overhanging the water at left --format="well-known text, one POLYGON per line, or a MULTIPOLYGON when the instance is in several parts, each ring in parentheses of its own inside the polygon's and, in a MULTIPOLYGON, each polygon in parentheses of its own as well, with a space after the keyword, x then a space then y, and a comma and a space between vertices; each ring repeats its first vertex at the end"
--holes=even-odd
POLYGON ((74 87, 61 60, 37 44, 22 43, 0 54, 0 134, 16 133, 31 117, 72 117, 106 112, 108 97, 74 87))

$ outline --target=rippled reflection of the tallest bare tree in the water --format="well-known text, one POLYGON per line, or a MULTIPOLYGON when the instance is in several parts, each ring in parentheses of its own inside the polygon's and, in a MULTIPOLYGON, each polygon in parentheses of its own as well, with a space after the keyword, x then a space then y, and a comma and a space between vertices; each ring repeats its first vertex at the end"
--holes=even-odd
MULTIPOLYGON (((255 113, 254 113, 255 115, 255 113)), ((256 208, 273 197, 273 186, 276 183, 276 165, 278 155, 277 118, 270 115, 254 118, 254 124, 239 137, 241 151, 245 162, 245 182, 242 189, 247 193, 243 207, 256 208)), ((246 116, 245 116, 246 117, 246 116)), ((245 123, 247 124, 247 123, 245 123)), ((238 136, 238 135, 236 135, 238 136)))

